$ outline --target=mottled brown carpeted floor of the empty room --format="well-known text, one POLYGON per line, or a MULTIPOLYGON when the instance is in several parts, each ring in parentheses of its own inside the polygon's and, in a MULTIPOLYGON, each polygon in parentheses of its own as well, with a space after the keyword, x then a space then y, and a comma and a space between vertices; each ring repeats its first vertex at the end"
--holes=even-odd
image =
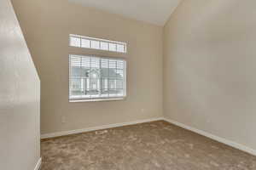
POLYGON ((256 170, 256 156, 168 122, 42 141, 41 170, 256 170))

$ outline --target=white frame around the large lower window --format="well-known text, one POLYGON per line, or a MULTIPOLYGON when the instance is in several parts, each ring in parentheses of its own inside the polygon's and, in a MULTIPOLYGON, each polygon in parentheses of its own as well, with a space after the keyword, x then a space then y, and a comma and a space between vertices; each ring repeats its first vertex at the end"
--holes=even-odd
MULTIPOLYGON (((108 65, 109 67, 109 65, 108 65)), ((70 103, 76 103, 76 102, 93 102, 93 101, 113 101, 113 100, 124 100, 127 97, 127 60, 122 57, 105 57, 105 56, 99 56, 95 54, 69 54, 68 55, 68 100, 70 103), (81 56, 81 57, 95 57, 99 59, 113 59, 113 60, 121 60, 124 61, 124 81, 123 81, 123 96, 113 96, 113 97, 100 97, 100 98, 71 98, 71 57, 72 56, 81 56)), ((108 77, 108 86, 109 86, 109 77, 108 77)))

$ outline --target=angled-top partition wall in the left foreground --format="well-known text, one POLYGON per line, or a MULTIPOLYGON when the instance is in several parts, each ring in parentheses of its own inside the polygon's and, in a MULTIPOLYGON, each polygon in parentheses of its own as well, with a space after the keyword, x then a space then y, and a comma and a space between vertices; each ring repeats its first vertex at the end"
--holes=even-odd
POLYGON ((40 157, 40 82, 9 0, 0 1, 0 169, 32 170, 40 157))

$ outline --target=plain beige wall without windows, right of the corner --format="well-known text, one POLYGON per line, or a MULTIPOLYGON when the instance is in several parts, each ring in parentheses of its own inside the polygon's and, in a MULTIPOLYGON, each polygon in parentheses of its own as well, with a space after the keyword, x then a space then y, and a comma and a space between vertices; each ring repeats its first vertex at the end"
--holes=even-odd
POLYGON ((256 149, 256 1, 184 0, 165 26, 164 114, 256 149))

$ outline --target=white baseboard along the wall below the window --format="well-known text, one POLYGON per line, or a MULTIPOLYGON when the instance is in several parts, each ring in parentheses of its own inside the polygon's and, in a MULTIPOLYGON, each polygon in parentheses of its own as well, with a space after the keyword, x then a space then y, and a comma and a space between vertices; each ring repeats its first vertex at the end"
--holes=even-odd
POLYGON ((143 123, 143 122, 154 122, 154 121, 162 121, 162 120, 164 120, 163 117, 158 117, 158 118, 144 119, 144 120, 135 121, 135 122, 121 122, 116 124, 109 124, 109 125, 103 125, 98 127, 89 127, 89 128, 77 129, 77 130, 71 130, 71 131, 63 131, 58 133, 46 133, 41 135, 41 139, 49 139, 49 138, 55 138, 60 136, 66 136, 69 134, 86 133, 86 132, 91 132, 96 130, 107 129, 107 128, 124 127, 127 125, 134 125, 134 124, 143 123))

